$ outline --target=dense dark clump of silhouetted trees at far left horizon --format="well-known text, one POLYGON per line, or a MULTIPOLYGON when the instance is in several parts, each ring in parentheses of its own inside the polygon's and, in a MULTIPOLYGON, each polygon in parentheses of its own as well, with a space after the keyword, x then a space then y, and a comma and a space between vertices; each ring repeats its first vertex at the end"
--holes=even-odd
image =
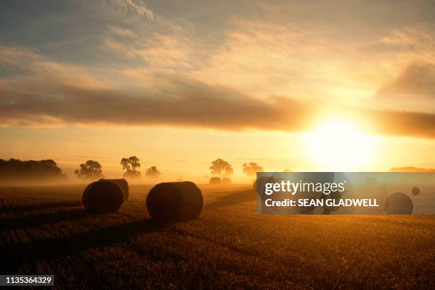
POLYGON ((0 181, 43 181, 46 179, 66 178, 55 161, 21 161, 0 159, 0 181))

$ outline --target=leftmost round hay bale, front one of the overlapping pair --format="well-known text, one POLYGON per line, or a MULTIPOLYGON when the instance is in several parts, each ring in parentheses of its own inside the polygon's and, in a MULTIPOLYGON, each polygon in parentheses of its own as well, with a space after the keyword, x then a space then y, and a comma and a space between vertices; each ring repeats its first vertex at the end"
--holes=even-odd
POLYGON ((112 213, 121 208, 124 193, 111 181, 95 181, 85 188, 82 203, 87 210, 97 213, 112 213))

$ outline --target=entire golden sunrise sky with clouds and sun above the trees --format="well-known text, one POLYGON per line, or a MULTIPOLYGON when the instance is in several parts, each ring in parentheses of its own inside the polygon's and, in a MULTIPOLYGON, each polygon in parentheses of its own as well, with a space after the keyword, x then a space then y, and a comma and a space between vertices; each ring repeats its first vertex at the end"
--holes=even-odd
POLYGON ((434 152, 434 1, 1 1, 0 159, 242 181, 434 152))

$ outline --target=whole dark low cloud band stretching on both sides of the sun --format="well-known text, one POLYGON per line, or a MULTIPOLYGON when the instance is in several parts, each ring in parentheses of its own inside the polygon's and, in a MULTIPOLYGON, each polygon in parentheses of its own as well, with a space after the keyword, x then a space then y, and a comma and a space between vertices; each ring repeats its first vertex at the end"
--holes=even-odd
MULTIPOLYGON (((163 75, 159 75, 162 79, 163 75)), ((59 124, 200 127, 219 130, 306 131, 318 104, 274 97, 257 100, 225 87, 176 75, 165 89, 132 94, 122 90, 57 85, 50 95, 0 89, 3 126, 59 124)), ((343 109, 367 123, 372 134, 435 138, 435 114, 343 109)))

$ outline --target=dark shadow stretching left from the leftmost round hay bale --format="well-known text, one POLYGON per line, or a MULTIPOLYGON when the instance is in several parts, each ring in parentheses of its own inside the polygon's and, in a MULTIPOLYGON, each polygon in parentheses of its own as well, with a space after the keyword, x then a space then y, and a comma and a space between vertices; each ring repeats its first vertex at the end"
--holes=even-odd
POLYGON ((85 209, 70 210, 60 213, 41 213, 39 215, 27 215, 20 218, 9 218, 7 220, 0 220, 1 230, 11 230, 14 228, 28 228, 38 227, 40 225, 46 225, 55 222, 62 222, 65 220, 80 220, 87 218, 96 213, 90 213, 85 209))

